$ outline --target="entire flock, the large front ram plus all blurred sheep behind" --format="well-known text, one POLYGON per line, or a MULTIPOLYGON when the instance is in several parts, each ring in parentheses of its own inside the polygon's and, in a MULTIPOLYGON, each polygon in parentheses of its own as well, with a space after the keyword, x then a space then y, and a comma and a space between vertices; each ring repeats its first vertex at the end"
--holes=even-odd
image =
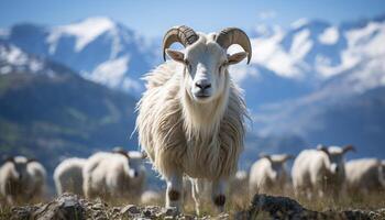
MULTIPOLYGON (((237 173, 246 108, 228 68, 244 58, 250 62, 248 35, 237 28, 204 34, 176 26, 164 36, 163 54, 173 61, 145 76, 146 91, 138 105, 136 131, 143 153, 114 148, 87 160, 68 158, 54 174, 57 194, 134 201, 157 198, 155 193, 142 195, 144 157, 166 182, 165 206, 182 210, 190 191, 198 215, 205 197, 223 211, 228 191, 232 198, 293 187, 296 195, 314 198, 338 195, 345 185, 363 191, 385 187, 384 162, 344 163, 344 154, 354 150, 351 145, 305 150, 295 158, 292 175, 285 168, 294 158, 290 155, 261 155, 250 174, 237 173), (173 43, 183 44, 184 52, 170 50, 173 43), (227 54, 233 44, 244 52, 227 54), (243 189, 243 185, 249 186, 243 189)), ((45 179, 46 173, 36 161, 10 158, 0 170, 1 195, 8 202, 38 197, 45 179)))

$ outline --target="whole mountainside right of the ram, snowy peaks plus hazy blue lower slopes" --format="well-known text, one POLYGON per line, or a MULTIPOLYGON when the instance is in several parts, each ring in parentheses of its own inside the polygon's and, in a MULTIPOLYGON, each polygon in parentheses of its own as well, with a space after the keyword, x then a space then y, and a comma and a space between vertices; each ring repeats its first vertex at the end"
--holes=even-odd
MULTIPOLYGON (((341 25, 301 20, 287 31, 262 26, 253 35, 252 68, 258 74, 241 85, 249 107, 254 105, 254 134, 273 140, 260 151, 297 136, 296 151, 298 144, 352 143, 354 157, 385 156, 385 19, 341 25)), ((293 147, 280 143, 273 151, 293 147)), ((246 146, 248 155, 255 148, 246 146)))

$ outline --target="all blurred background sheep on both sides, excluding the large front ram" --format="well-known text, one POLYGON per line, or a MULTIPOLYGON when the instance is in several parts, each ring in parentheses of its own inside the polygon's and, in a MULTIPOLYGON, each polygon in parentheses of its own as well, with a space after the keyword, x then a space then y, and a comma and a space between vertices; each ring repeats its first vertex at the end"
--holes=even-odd
MULTIPOLYGON (((319 145, 304 150, 294 158, 287 154, 261 154, 250 172, 239 170, 230 180, 232 198, 254 194, 287 194, 317 198, 339 193, 376 193, 385 189, 385 160, 360 158, 344 162, 344 147, 319 145), (292 175, 286 162, 294 160, 292 175), (292 188, 293 187, 293 188, 292 188)), ((113 148, 89 158, 67 158, 57 165, 54 182, 57 195, 73 193, 86 198, 128 199, 131 202, 160 201, 161 193, 145 191, 145 154, 113 148)), ((46 190, 46 172, 41 163, 24 156, 6 160, 0 167, 0 193, 10 205, 42 199, 46 190)), ((204 183, 206 196, 210 188, 204 183)), ((191 184, 184 180, 184 197, 191 197, 191 184)), ((194 193, 194 191, 193 191, 194 193)), ((249 196, 248 196, 249 195, 249 196)))

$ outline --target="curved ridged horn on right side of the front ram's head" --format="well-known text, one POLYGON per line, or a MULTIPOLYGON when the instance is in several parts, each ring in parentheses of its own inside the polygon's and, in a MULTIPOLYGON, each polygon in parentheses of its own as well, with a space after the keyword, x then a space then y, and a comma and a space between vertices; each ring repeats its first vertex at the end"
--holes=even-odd
POLYGON ((248 52, 248 64, 250 63, 252 50, 249 36, 242 30, 237 28, 227 28, 219 32, 217 43, 224 50, 228 50, 232 44, 239 44, 248 52))

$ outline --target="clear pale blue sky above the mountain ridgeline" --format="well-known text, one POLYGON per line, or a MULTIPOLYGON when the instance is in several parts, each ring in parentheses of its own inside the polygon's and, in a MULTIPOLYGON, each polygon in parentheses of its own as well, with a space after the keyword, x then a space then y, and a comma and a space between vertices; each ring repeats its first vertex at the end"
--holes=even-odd
POLYGON ((287 26, 300 19, 331 23, 385 14, 384 0, 1 0, 0 28, 18 22, 66 24, 88 16, 110 16, 147 36, 187 24, 204 32, 226 26, 251 30, 256 24, 287 26))

